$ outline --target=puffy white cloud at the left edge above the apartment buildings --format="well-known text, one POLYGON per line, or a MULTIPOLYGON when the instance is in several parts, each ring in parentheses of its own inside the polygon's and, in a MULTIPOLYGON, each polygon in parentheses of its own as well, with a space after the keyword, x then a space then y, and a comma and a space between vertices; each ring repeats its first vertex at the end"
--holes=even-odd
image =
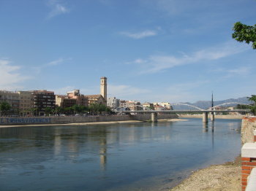
POLYGON ((20 82, 31 77, 19 73, 20 66, 12 66, 10 60, 0 58, 0 89, 15 90, 20 88, 20 82))

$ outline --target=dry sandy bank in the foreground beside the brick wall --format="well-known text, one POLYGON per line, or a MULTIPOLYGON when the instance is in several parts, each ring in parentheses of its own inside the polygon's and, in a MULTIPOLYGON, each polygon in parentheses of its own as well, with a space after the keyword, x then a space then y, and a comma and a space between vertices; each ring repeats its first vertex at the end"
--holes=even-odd
POLYGON ((240 191, 241 157, 234 162, 195 171, 170 191, 240 191))

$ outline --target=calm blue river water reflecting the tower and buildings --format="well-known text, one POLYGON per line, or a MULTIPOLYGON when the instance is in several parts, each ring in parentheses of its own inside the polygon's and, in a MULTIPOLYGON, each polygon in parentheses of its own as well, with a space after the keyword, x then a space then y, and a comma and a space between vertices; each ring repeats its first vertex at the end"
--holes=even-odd
POLYGON ((241 120, 0 128, 0 190, 169 190, 241 152, 241 120))

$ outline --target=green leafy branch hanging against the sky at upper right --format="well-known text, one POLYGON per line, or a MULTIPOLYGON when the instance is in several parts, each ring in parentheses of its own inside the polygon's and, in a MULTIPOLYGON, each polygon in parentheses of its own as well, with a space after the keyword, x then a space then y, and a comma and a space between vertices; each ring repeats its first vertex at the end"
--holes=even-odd
POLYGON ((247 44, 252 42, 252 48, 256 49, 256 25, 246 26, 237 22, 234 24, 233 31, 233 39, 236 39, 238 42, 246 42, 247 44))

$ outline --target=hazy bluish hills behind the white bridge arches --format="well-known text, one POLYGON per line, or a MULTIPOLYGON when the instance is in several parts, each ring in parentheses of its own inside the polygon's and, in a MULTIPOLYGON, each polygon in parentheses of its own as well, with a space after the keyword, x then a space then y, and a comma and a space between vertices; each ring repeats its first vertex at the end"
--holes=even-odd
MULTIPOLYGON (((225 103, 230 103, 230 102, 237 102, 237 103, 243 103, 243 104, 252 104, 251 101, 248 101, 248 98, 243 97, 243 98, 230 98, 230 99, 226 99, 223 101, 214 101, 214 106, 217 106, 219 104, 225 104, 225 103)), ((197 106, 201 109, 208 109, 209 107, 211 107, 211 101, 197 101, 195 103, 189 103, 189 102, 184 102, 181 104, 189 104, 192 106, 197 106)), ((224 105, 224 106, 236 106, 237 104, 228 104, 228 105, 224 105)), ((186 109, 192 109, 192 107, 189 106, 183 106, 183 105, 176 105, 173 106, 173 109, 177 109, 177 110, 186 110, 186 109)))

